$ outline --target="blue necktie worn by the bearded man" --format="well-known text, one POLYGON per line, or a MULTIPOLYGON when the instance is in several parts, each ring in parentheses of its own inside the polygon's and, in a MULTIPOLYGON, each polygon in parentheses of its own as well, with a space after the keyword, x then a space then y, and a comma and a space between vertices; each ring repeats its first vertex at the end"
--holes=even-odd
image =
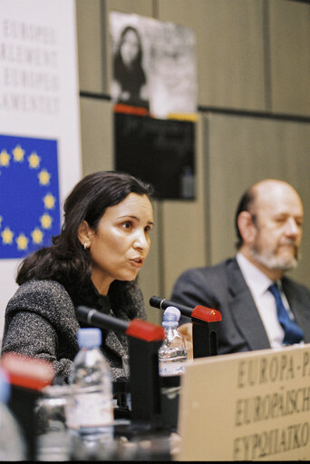
POLYGON ((299 343, 304 340, 304 332, 300 329, 300 327, 298 327, 295 321, 290 319, 276 283, 270 285, 268 291, 270 291, 275 297, 277 319, 285 331, 283 344, 294 345, 295 343, 299 343))

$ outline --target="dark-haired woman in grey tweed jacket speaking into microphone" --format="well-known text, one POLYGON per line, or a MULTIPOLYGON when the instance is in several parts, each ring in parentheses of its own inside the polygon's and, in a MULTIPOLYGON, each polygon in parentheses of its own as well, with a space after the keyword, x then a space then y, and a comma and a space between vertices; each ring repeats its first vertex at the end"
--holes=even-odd
MULTIPOLYGON (((74 308, 83 305, 130 321, 145 319, 136 281, 150 250, 152 187, 126 173, 100 172, 76 184, 64 202, 53 244, 24 259, 20 285, 5 311, 2 354, 16 352, 53 364, 67 377, 78 351, 74 308)), ((127 338, 102 331, 111 377, 123 375, 127 338)))

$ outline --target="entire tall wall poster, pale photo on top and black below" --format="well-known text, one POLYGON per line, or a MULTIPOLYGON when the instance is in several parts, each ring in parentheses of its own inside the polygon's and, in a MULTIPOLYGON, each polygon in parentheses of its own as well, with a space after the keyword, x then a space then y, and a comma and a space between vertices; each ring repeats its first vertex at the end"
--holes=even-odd
POLYGON ((115 169, 160 200, 195 199, 195 34, 140 15, 110 13, 115 169))

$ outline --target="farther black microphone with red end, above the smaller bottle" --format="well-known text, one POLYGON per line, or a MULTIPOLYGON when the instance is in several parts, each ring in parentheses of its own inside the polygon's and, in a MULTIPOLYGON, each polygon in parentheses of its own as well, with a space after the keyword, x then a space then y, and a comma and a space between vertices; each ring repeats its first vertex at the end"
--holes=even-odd
POLYGON ((184 304, 175 303, 158 296, 150 297, 150 306, 159 308, 160 310, 165 310, 169 306, 175 306, 183 316, 188 316, 189 318, 196 318, 206 322, 222 321, 221 313, 212 308, 207 308, 207 306, 198 305, 195 308, 189 308, 189 306, 185 306, 184 304))

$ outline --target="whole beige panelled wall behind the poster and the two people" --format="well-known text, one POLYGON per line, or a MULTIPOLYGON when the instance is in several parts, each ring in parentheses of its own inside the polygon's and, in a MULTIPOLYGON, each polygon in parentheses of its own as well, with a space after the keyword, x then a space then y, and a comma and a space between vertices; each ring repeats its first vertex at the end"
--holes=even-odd
POLYGON ((310 5, 293 0, 76 0, 83 173, 113 169, 111 10, 192 27, 197 37, 199 121, 194 202, 155 202, 150 257, 140 272, 150 296, 170 298, 179 273, 234 250, 234 212, 251 183, 292 183, 305 206, 302 261, 310 285, 310 5), (186 218, 186 221, 185 221, 186 218))

